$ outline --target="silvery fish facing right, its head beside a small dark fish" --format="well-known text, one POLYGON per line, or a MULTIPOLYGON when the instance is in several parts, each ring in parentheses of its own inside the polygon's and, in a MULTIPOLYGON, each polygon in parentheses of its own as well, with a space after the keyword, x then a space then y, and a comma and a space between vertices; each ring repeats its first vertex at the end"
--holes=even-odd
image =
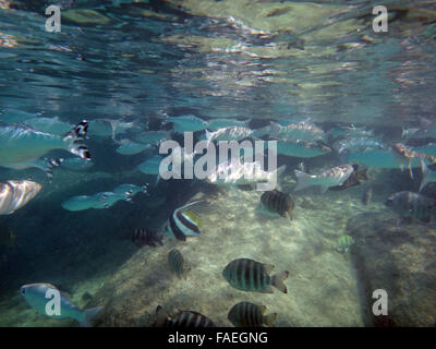
POLYGON ((319 185, 322 193, 325 193, 330 186, 342 185, 353 171, 354 168, 351 165, 334 167, 320 172, 319 174, 307 174, 294 170, 298 181, 294 191, 303 190, 312 185, 319 185))

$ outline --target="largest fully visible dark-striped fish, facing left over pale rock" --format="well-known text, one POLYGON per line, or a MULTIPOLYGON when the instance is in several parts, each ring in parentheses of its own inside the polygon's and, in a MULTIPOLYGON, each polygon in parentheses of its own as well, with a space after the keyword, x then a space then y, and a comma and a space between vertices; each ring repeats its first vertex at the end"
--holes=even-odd
POLYGON ((270 264, 262 264, 249 258, 239 258, 226 266, 222 270, 222 276, 230 286, 242 291, 272 293, 272 285, 281 292, 288 293, 283 280, 288 277, 289 272, 284 270, 269 276, 274 267, 270 264))

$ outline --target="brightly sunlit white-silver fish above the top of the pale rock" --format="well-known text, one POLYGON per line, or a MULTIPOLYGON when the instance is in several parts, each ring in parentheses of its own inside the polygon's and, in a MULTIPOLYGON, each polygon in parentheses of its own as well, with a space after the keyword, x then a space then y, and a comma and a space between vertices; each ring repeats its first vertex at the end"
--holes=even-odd
POLYGON ((230 159, 219 164, 207 176, 206 181, 216 185, 244 185, 253 183, 277 183, 277 178, 286 170, 286 165, 274 171, 264 171, 259 161, 243 163, 230 159))

